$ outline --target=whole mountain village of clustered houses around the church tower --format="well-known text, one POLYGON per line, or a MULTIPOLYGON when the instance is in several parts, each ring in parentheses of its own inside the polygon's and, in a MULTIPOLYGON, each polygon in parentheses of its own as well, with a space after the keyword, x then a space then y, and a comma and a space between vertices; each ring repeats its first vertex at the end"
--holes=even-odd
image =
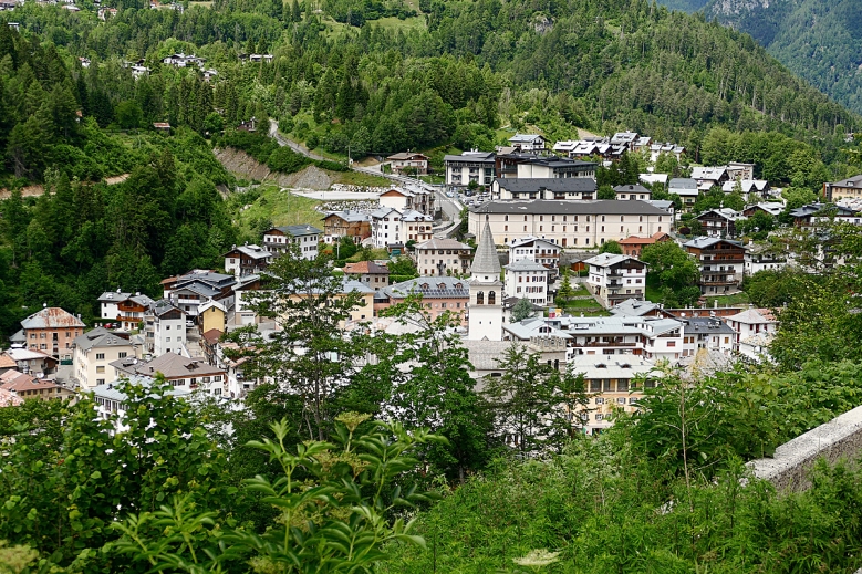
POLYGON ((382 189, 376 203, 322 213, 323 229, 318 221, 273 227, 260 244, 225 253, 222 269, 165 278, 158 299, 105 292, 97 324, 45 305, 21 322, 0 354, 0 401, 12 406, 92 393, 107 417, 123 413, 121 378, 149 384, 162 374, 175 394, 205 393, 241 405, 263 379, 243 373, 243 361, 229 358, 237 345, 222 335, 249 325, 263 334, 280 328, 252 311, 249 294, 262 289, 276 258, 313 260, 321 247, 349 240, 385 249, 390 259, 333 268, 343 278, 341 296, 361 295, 341 324, 345 333, 396 328, 382 312, 420 295, 429 316, 454 319, 479 389, 486 377, 502 375, 499 363, 511 345, 525 346, 554 369, 582 374, 590 404, 572 419, 593 434, 613 424, 615 410, 636 409, 642 390, 661 384, 662 365, 715 371, 738 361, 770 361, 779 325, 773 311, 719 303, 739 293, 745 278, 786 265, 817 272, 816 263, 841 263, 829 259, 828 249, 812 263, 768 241, 744 243, 740 226, 747 218, 765 215, 775 221, 775 234, 828 220, 862 220, 862 176, 825 182, 822 202, 789 211, 781 190, 754 179, 755 166, 740 163, 694 167, 690 177, 641 174, 644 185, 617 186, 615 199, 596 199, 599 163, 611 165, 633 153, 653 161, 661 154, 678 159, 685 149, 629 132, 558 142, 552 149, 540 135, 518 134, 510 143, 492 153, 446 156, 445 185, 436 187, 404 176, 428 173, 427 156, 391 156, 395 185, 382 189), (657 188, 678 199, 653 199, 657 188), (698 196, 716 189, 741 190, 745 209, 709 209, 683 222, 698 196), (451 217, 439 207, 445 202, 455 208, 451 217), (778 223, 782 213, 785 228, 778 223), (460 240, 453 238, 458 228, 467 230, 460 240), (617 249, 604 251, 612 242, 617 249), (697 306, 669 309, 647 299, 651 269, 640 257, 663 242, 678 244, 696 262, 697 306), (388 264, 399 258, 409 258, 418 276, 391 281, 388 264), (575 294, 561 302, 563 290, 575 294), (527 302, 526 312, 517 310, 520 302, 527 302))

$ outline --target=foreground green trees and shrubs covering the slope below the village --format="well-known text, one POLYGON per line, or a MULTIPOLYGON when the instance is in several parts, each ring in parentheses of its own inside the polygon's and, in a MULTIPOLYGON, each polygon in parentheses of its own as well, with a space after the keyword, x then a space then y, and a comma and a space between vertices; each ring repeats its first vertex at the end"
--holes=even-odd
POLYGON ((850 268, 754 290, 787 304, 776 364, 661 367, 632 380, 641 409, 594 437, 567 416, 590 398, 582 376, 516 345, 477 389, 453 315, 408 299, 386 312, 408 333, 344 331, 362 295, 339 294, 325 258, 284 255, 267 288, 311 295, 249 301, 283 328, 230 334, 271 380, 245 409, 159 377, 121 383, 105 416, 89 396, 0 409, 0 566, 850 574, 861 471, 820 463, 810 489, 779 493, 744 466, 859 404, 862 331, 837 288, 858 286, 862 251, 845 231, 850 268))

